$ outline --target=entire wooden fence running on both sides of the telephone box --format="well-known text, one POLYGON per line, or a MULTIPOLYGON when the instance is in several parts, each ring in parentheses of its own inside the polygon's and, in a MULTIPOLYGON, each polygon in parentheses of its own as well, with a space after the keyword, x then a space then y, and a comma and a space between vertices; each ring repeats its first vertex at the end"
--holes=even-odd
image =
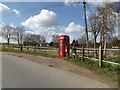
MULTIPOLYGON (((20 50, 22 51, 33 51, 36 53, 44 53, 44 54, 48 54, 48 55, 54 55, 57 56, 58 55, 58 48, 53 48, 53 47, 37 47, 37 46, 15 46, 15 45, 3 45, 2 48, 10 48, 12 50, 20 50)), ((115 51, 115 52, 120 52, 120 49, 102 49, 102 47, 100 47, 99 49, 93 49, 93 48, 77 48, 77 55, 79 57, 82 58, 82 61, 84 62, 85 59, 91 59, 91 60, 95 60, 95 61, 99 61, 99 67, 102 67, 102 63, 106 62, 106 63, 110 63, 110 64, 115 64, 115 65, 120 65, 120 63, 116 63, 116 62, 111 62, 111 61, 106 61, 103 60, 104 56, 103 56, 103 51, 115 51), (93 56, 94 54, 94 50, 97 51, 97 58, 95 58, 93 56), (89 51, 89 56, 87 56, 87 51, 89 51)))

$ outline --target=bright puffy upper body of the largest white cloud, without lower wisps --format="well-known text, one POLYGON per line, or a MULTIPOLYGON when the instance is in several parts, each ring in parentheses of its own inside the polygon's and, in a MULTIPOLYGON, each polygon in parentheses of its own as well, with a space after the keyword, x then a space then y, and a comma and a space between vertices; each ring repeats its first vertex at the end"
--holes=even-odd
POLYGON ((22 22, 22 25, 32 29, 35 29, 35 27, 51 27, 58 25, 58 19, 56 13, 43 9, 40 14, 31 16, 25 22, 22 22))

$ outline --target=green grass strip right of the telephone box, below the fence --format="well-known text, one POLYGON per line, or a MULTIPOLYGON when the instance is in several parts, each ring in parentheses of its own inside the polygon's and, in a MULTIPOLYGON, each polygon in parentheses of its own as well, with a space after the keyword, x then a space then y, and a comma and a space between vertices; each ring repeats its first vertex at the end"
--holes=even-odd
POLYGON ((103 67, 98 66, 98 61, 92 61, 89 59, 85 59, 82 62, 81 58, 72 59, 72 58, 64 58, 64 60, 70 61, 80 67, 87 68, 98 75, 104 75, 108 77, 113 82, 120 82, 120 66, 119 65, 111 65, 108 63, 103 63, 103 67))

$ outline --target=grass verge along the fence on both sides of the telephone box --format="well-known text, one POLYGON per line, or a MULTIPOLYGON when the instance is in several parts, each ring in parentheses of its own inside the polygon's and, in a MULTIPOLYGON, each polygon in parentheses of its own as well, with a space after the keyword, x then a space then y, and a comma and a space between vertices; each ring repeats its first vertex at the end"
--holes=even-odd
MULTIPOLYGON (((44 57, 52 57, 52 58, 58 58, 57 56, 57 51, 43 51, 43 50, 36 50, 34 51, 27 51, 23 50, 22 52, 19 49, 12 49, 12 48, 0 48, 0 50, 5 51, 5 52, 15 52, 15 53, 26 53, 26 54, 32 54, 32 55, 41 55, 44 57)), ((98 75, 104 75, 108 77, 111 81, 113 82, 120 82, 120 65, 112 65, 108 63, 103 63, 103 67, 100 68, 98 67, 98 61, 92 61, 89 59, 85 59, 84 62, 82 62, 82 59, 79 57, 76 57, 76 59, 73 59, 72 57, 68 58, 62 58, 66 61, 72 62, 73 64, 76 64, 80 67, 87 68, 98 75)), ((105 58, 105 60, 109 61, 117 61, 120 63, 120 61, 116 58, 105 58)), ((119 83, 120 84, 120 83, 119 83)))

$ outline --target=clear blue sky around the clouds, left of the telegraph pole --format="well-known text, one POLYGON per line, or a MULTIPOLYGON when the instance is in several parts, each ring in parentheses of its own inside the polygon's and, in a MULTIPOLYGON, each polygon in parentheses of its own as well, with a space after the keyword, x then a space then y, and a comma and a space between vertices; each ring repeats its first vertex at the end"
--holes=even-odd
MULTIPOLYGON (((49 5, 59 5, 64 4, 64 2, 6 2, 3 3, 12 9, 19 10, 21 13, 29 10, 37 9, 33 12, 28 12, 20 15, 15 15, 12 11, 3 12, 3 22, 6 24, 13 23, 15 26, 20 26, 21 22, 40 13, 40 10, 46 9, 49 5), (5 16, 4 15, 9 15, 5 16)), ((58 15, 60 24, 67 26, 70 22, 75 22, 76 24, 84 25, 83 21, 83 6, 82 4, 76 4, 71 6, 61 6, 61 7, 50 7, 47 10, 53 11, 58 15)))

